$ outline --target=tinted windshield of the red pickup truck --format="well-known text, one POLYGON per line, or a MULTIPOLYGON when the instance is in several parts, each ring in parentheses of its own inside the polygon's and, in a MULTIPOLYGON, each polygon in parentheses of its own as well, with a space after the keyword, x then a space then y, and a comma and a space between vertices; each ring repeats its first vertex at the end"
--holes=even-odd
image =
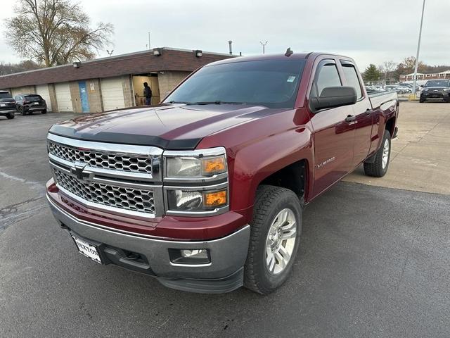
POLYGON ((264 60, 207 65, 181 84, 165 103, 293 108, 304 63, 304 60, 264 60))

